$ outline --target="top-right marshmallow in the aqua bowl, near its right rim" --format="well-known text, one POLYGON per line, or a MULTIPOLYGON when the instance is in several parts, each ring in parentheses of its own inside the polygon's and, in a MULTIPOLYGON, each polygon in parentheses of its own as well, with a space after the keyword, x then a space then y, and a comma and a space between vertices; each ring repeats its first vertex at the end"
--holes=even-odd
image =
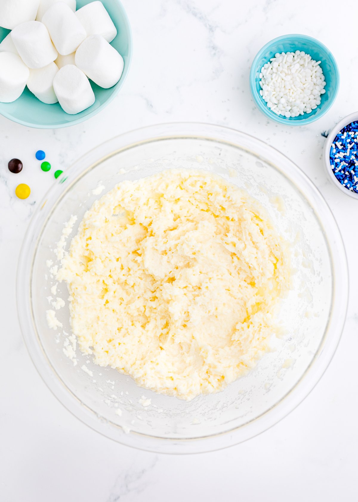
POLYGON ((102 35, 107 42, 112 42, 117 35, 116 27, 102 2, 91 2, 81 7, 76 16, 86 30, 87 37, 102 35))

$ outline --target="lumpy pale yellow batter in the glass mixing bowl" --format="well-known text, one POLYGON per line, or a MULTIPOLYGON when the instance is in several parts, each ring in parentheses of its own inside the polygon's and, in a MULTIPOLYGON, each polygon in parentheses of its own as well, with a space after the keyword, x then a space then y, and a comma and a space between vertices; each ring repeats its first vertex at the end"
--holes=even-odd
POLYGON ((288 262, 247 193, 205 171, 169 170, 97 200, 57 278, 84 353, 190 400, 220 391, 268 349, 288 262))

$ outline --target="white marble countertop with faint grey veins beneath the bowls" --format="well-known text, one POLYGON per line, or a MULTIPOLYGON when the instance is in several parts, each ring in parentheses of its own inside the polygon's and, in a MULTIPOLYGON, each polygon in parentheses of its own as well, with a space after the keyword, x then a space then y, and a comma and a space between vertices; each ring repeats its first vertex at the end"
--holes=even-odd
POLYGON ((0 500, 4 502, 265 502, 357 500, 358 202, 331 186, 323 171, 324 138, 358 109, 358 3, 333 0, 123 0, 134 55, 119 96, 87 122, 68 129, 26 129, 0 116, 0 500), (308 127, 267 121, 249 92, 250 63, 260 47, 287 33, 320 39, 341 75, 331 110, 308 127), (343 336, 323 378, 279 424, 235 447, 194 456, 132 450, 74 418, 40 379, 17 320, 15 274, 29 219, 53 182, 34 153, 55 168, 107 138, 164 121, 208 121, 246 131, 296 162, 318 186, 340 226, 351 273, 343 336), (8 171, 13 157, 21 174, 8 171), (28 182, 28 200, 15 187, 28 182))

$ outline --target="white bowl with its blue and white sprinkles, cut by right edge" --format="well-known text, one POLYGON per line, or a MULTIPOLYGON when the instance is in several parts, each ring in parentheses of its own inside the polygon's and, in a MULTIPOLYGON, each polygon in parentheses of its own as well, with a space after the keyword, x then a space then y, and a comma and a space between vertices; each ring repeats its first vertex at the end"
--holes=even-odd
POLYGON ((358 128, 347 132, 345 138, 337 138, 343 128, 355 121, 358 121, 358 111, 342 118, 330 131, 324 145, 323 160, 333 185, 345 195, 358 200, 358 128), (343 142, 339 141, 342 139, 343 142), (348 158, 350 162, 347 162, 348 158))

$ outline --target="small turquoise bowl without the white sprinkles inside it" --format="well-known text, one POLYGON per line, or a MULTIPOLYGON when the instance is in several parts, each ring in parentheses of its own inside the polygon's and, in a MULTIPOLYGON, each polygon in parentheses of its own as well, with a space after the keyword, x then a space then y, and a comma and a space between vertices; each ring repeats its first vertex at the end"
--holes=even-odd
POLYGON ((325 45, 321 44, 321 42, 312 37, 307 37, 306 35, 284 35, 274 38, 258 52, 251 65, 250 89, 256 106, 266 116, 281 124, 303 126, 317 120, 317 118, 324 115, 332 106, 337 96, 338 88, 339 71, 332 53, 325 45), (261 79, 259 78, 259 74, 263 65, 267 63, 270 58, 274 57, 276 52, 295 52, 297 50, 309 54, 315 61, 321 61, 320 67, 322 68, 326 81, 326 86, 324 87, 325 93, 321 94, 320 105, 312 110, 311 113, 304 113, 303 115, 298 115, 298 117, 287 118, 282 115, 276 115, 276 113, 271 111, 262 96, 260 96, 259 91, 261 87, 259 82, 261 79))

